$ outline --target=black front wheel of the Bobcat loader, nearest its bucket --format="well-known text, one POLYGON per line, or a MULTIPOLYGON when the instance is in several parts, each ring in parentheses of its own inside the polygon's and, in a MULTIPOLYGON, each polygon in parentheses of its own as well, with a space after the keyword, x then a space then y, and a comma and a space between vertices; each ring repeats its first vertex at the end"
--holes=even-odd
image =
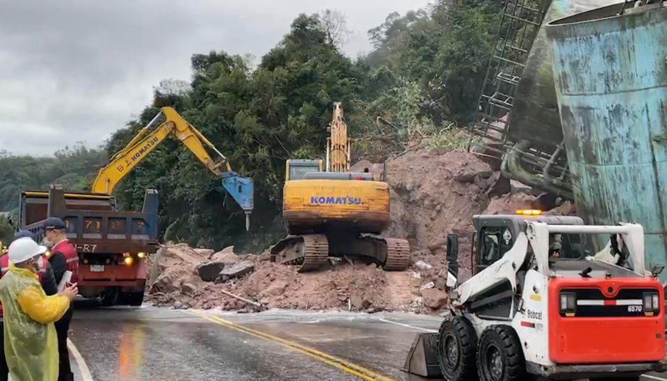
POLYGON ((440 324, 438 363, 449 381, 475 380, 477 334, 470 321, 454 316, 440 324))

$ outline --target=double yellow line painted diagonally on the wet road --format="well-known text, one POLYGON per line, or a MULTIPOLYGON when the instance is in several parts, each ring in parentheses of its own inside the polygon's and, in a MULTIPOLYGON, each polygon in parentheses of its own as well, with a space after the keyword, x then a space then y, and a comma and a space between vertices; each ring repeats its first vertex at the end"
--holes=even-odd
POLYGON ((294 341, 289 341, 286 339, 282 339, 280 337, 273 336, 272 334, 267 334, 265 332, 253 330, 252 328, 244 327, 242 325, 238 325, 236 323, 232 323, 231 321, 227 321, 223 318, 220 318, 218 316, 212 315, 212 314, 206 314, 201 311, 188 311, 190 314, 194 314, 199 316, 200 318, 204 318, 208 321, 212 321, 213 323, 217 323, 219 325, 222 325, 224 327, 231 328, 232 330, 237 330, 239 332, 243 332, 245 334, 249 334, 253 337, 258 337, 259 339, 265 339, 267 341, 273 341, 275 343, 279 343, 281 346, 284 346, 286 348, 290 348, 291 350, 295 350, 299 353, 302 353, 304 355, 307 355, 308 357, 312 357, 313 359, 318 359, 321 362, 324 362, 325 364, 329 364, 331 366, 336 366, 336 368, 339 368, 343 371, 346 371, 347 373, 356 375, 357 377, 363 378, 364 380, 368 381, 397 381, 393 378, 390 378, 386 375, 381 375, 380 373, 377 373, 375 371, 372 371, 368 368, 365 368, 361 365, 354 364, 353 362, 349 362, 346 359, 341 359, 340 357, 332 356, 329 355, 328 353, 320 352, 319 350, 316 350, 314 348, 310 348, 307 346, 302 346, 299 343, 295 343, 294 341))

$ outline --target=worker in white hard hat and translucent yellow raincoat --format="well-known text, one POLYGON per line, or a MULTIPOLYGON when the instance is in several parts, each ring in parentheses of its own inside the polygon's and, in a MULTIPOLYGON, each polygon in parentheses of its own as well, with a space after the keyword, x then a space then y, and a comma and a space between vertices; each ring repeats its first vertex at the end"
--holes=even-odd
POLYGON ((9 271, 0 279, 5 356, 15 381, 58 380, 53 322, 65 314, 78 290, 72 284, 56 295, 44 293, 38 271, 46 250, 31 238, 17 239, 9 245, 9 271))

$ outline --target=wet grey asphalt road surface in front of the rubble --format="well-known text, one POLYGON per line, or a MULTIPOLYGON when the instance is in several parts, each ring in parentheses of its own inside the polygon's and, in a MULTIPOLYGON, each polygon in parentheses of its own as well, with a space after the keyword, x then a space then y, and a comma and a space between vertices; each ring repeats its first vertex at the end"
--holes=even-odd
MULTIPOLYGON (((76 310, 70 338, 96 381, 363 379, 286 348, 292 343, 343 358, 387 381, 413 381, 422 379, 401 368, 415 334, 436 330, 440 322, 436 316, 405 314, 204 312, 271 336, 240 332, 183 310, 119 307, 76 310)), ((667 375, 643 380, 667 381, 667 375)))

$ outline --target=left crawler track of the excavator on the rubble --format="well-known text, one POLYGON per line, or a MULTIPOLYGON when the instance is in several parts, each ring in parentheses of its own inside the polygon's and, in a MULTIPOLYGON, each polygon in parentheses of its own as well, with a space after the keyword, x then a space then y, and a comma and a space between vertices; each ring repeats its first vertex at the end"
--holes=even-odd
POLYGON ((271 254, 274 262, 299 266, 299 273, 317 270, 327 262, 329 241, 324 234, 288 236, 272 249, 271 254))

